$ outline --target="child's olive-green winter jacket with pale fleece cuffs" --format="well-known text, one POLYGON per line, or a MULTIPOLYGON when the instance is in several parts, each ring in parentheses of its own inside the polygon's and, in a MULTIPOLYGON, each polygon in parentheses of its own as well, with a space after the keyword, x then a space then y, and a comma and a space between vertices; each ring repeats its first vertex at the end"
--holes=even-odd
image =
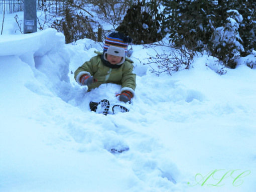
POLYGON ((93 76, 97 82, 88 86, 88 91, 99 87, 104 83, 115 83, 121 85, 122 91, 130 91, 134 95, 136 88, 136 74, 133 73, 133 61, 125 58, 125 62, 119 68, 109 68, 101 61, 102 53, 95 52, 98 55, 86 61, 75 71, 75 80, 81 85, 80 78, 82 75, 93 76))

